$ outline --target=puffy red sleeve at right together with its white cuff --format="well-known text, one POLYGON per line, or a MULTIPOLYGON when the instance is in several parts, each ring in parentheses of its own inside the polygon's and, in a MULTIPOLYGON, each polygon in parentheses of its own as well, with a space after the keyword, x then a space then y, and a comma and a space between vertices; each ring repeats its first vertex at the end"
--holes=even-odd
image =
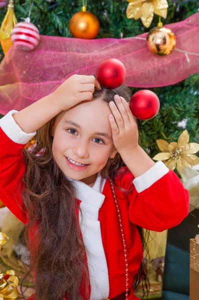
MULTIPOLYGON (((160 168, 161 163, 158 164, 160 168)), ((146 172, 134 179, 132 173, 128 172, 122 178, 126 189, 130 187, 130 181, 134 183, 132 192, 128 194, 128 215, 130 221, 140 227, 163 231, 178 225, 187 216, 189 195, 172 170, 169 169, 160 175, 161 177, 150 185, 153 180, 151 175, 150 170, 148 174, 146 172), (146 182, 147 179, 149 183, 146 182)))

